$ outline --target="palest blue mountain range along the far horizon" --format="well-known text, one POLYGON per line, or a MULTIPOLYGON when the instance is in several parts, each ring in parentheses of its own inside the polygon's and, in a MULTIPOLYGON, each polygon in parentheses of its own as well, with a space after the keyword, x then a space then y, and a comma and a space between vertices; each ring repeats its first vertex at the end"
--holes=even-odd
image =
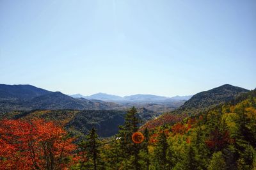
POLYGON ((103 101, 129 101, 129 102, 143 102, 143 101, 163 101, 163 100, 189 100, 189 98, 192 97, 190 96, 175 96, 175 97, 161 97, 157 95, 131 95, 131 96, 125 96, 125 97, 120 97, 116 95, 109 95, 106 93, 96 93, 94 95, 90 96, 83 96, 81 94, 76 94, 76 95, 70 95, 70 97, 74 98, 86 98, 86 99, 96 99, 96 100, 103 100, 103 101))

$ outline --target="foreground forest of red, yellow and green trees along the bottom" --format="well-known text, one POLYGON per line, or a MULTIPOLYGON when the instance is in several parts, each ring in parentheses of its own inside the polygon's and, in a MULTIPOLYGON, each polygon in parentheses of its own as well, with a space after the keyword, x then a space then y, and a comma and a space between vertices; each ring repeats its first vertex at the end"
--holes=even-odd
POLYGON ((255 169, 256 90, 177 123, 140 128, 135 107, 114 137, 83 139, 43 118, 0 122, 1 169, 255 169), (79 139, 79 140, 78 140, 79 139))

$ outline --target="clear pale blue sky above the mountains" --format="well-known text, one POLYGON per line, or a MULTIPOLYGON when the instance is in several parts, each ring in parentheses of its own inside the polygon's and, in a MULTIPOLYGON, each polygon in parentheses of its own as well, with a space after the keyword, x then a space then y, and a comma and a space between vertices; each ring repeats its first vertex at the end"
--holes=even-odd
POLYGON ((256 88, 256 1, 0 0, 0 83, 65 94, 256 88))

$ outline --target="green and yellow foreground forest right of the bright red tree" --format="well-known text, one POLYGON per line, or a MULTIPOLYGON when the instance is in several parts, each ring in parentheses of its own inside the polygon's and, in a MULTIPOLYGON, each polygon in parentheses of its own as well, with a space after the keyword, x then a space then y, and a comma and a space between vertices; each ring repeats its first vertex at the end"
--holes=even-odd
POLYGON ((256 168, 255 90, 175 125, 141 130, 139 123, 136 109, 132 108, 111 141, 100 141, 92 129, 86 141, 94 145, 82 145, 90 146, 88 161, 73 168, 93 169, 93 165, 97 169, 256 168), (144 135, 140 144, 131 139, 138 130, 144 135))

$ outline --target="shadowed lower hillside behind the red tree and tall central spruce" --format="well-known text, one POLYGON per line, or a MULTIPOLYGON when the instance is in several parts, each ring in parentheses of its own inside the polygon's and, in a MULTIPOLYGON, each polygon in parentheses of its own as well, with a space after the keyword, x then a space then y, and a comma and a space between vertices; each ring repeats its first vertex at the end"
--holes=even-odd
MULTIPOLYGON (((0 120, 22 119, 34 120, 44 119, 54 121, 65 127, 68 132, 75 135, 85 135, 92 127, 95 127, 100 137, 111 137, 118 132, 118 126, 123 125, 126 110, 33 110, 33 111, 12 111, 1 114, 0 120)), ((138 116, 141 119, 140 125, 148 120, 159 116, 156 112, 145 108, 138 109, 138 116)))

